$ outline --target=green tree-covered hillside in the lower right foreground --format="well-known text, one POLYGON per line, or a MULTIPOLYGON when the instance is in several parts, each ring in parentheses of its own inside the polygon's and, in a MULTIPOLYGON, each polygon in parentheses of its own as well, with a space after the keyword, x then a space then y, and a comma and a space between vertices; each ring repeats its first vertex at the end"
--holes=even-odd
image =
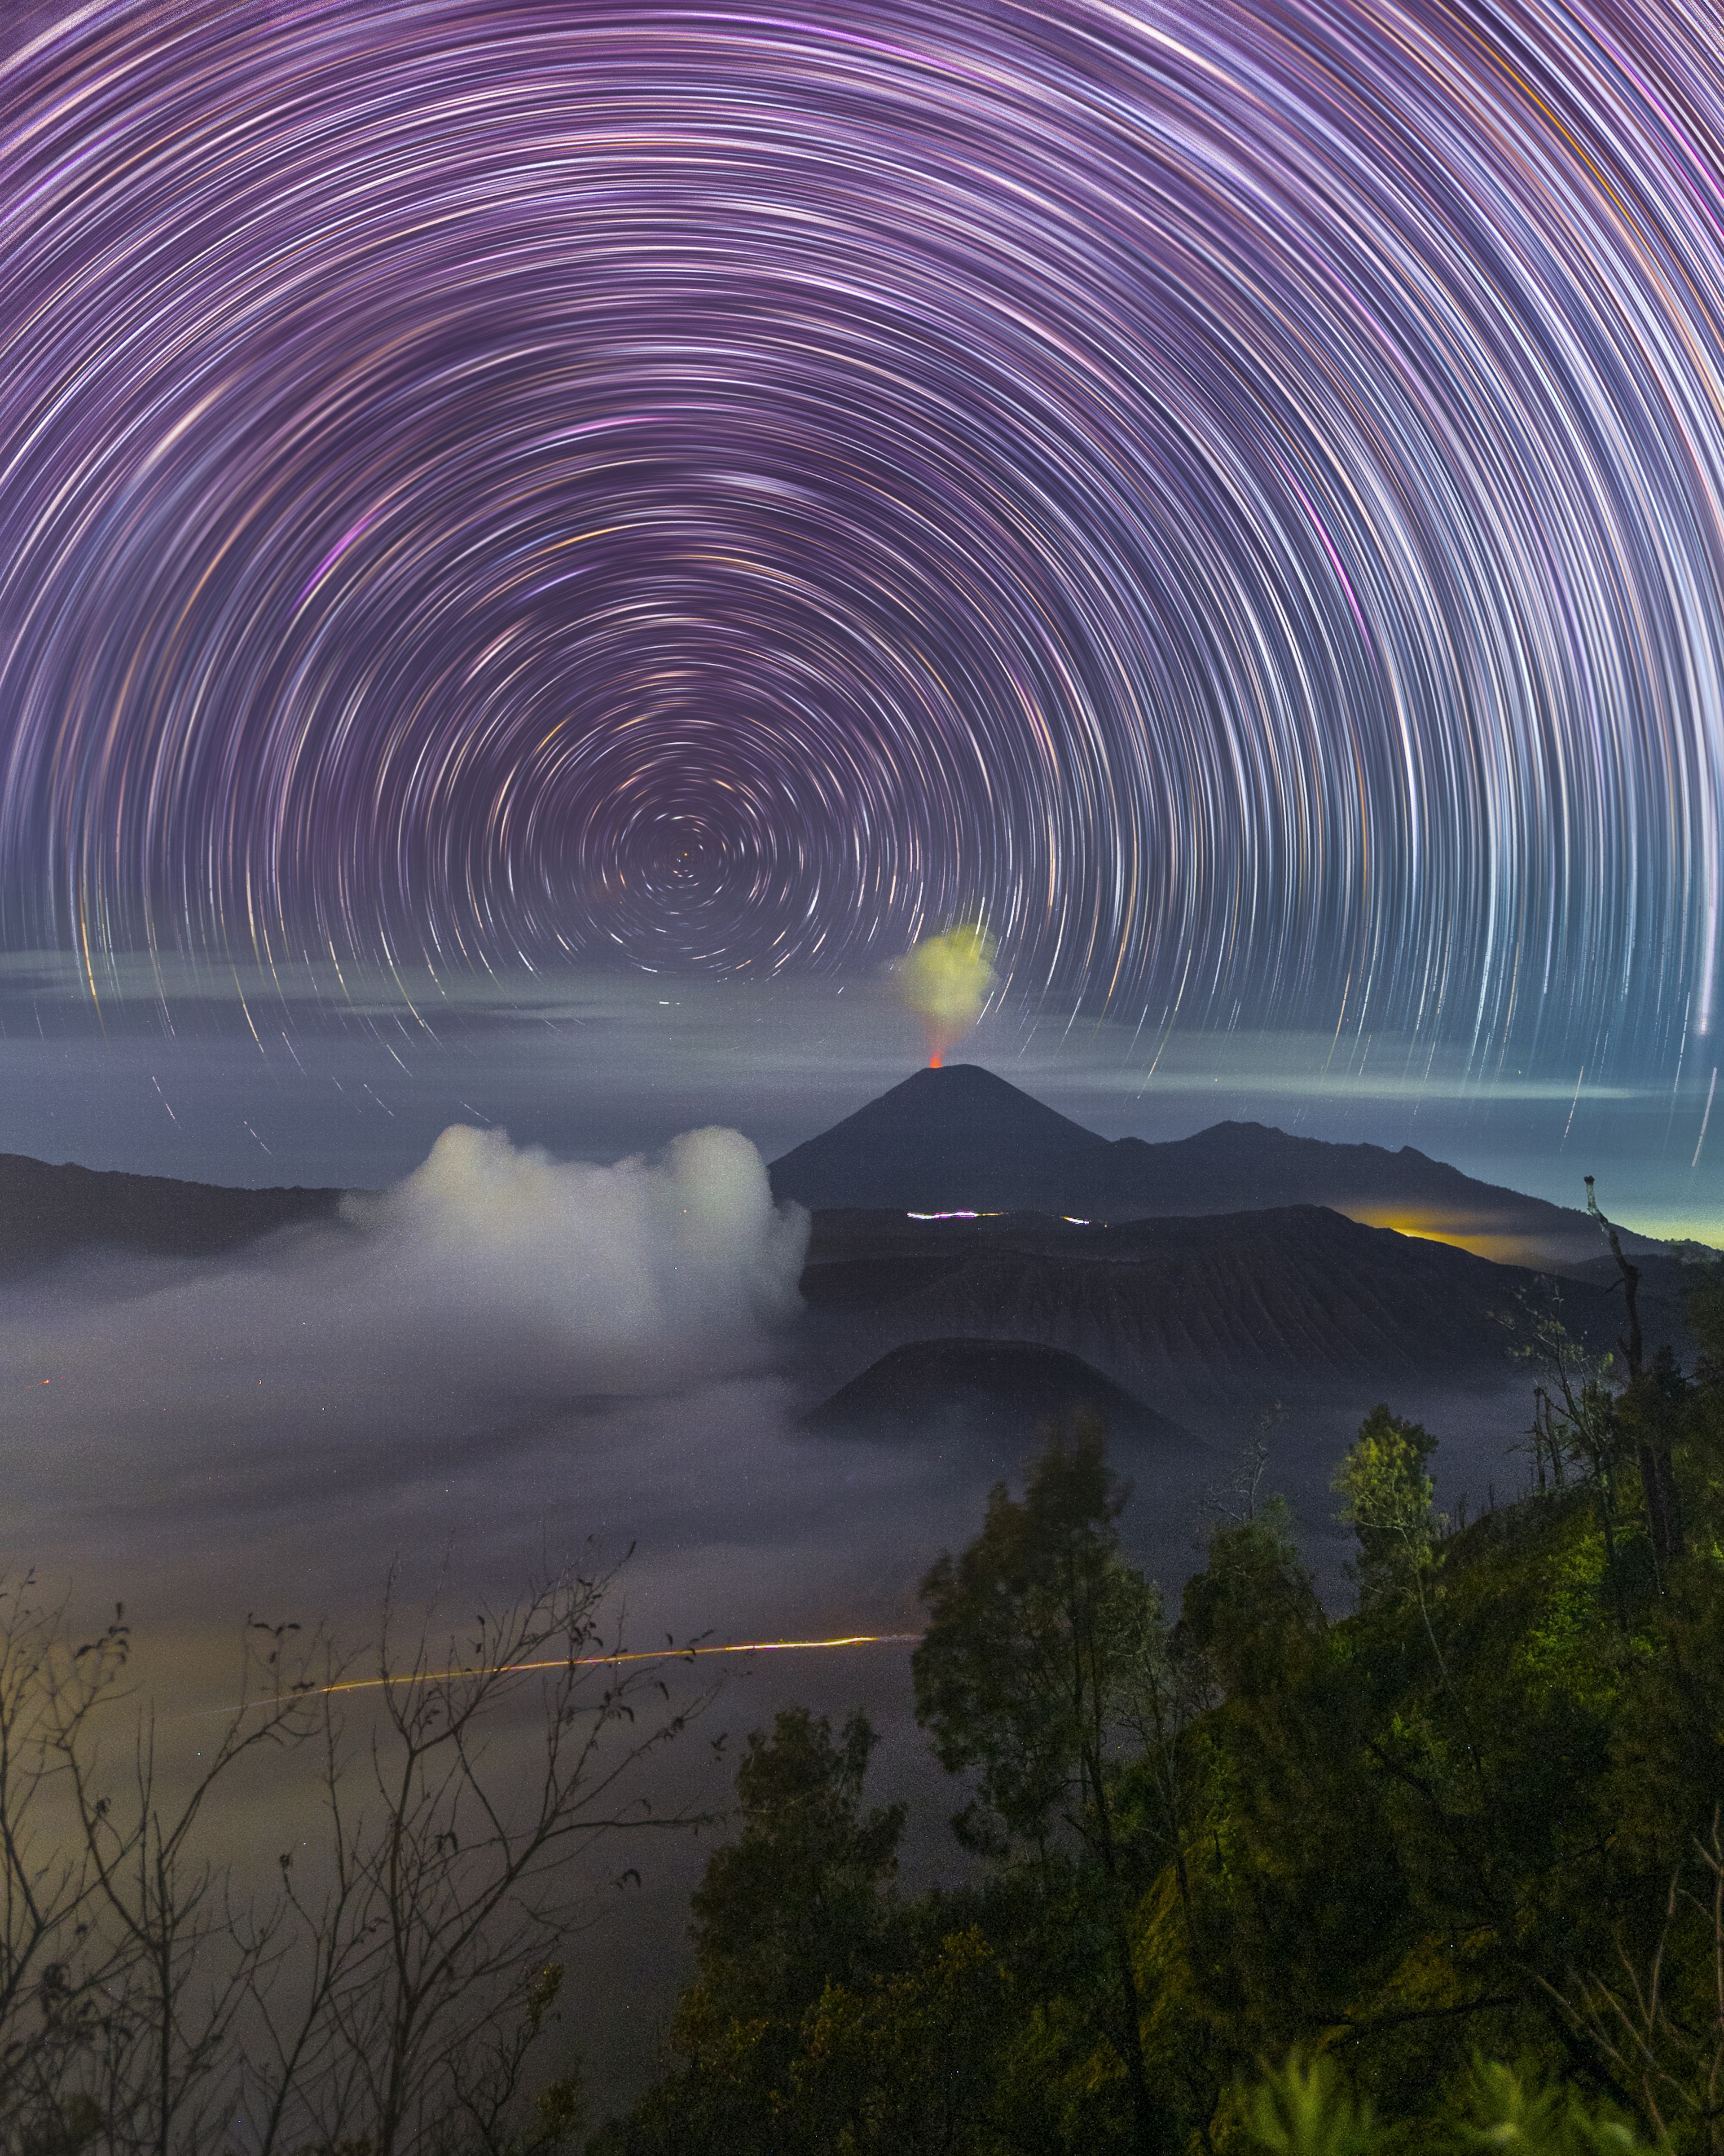
POLYGON ((1537 1488, 1461 1531, 1375 1408, 1345 1615, 1269 1501, 1168 1626, 1099 1434, 1052 1434, 924 1587, 976 1884, 868 1874, 776 2001, 737 1932, 683 2027, 743 2093, 627 2145, 1724 2156, 1724 1281, 1696 1311, 1692 1373, 1552 1317, 1537 1488))

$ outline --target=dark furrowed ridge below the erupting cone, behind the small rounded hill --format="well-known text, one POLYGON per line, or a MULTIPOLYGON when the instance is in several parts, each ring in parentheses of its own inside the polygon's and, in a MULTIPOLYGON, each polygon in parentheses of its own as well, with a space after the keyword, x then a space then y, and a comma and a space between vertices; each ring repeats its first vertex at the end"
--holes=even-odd
MULTIPOLYGON (((1179 1421, 1276 1395, 1521 1384, 1498 1313, 1545 1294, 1526 1270, 1315 1205, 1110 1227, 828 1214, 802 1285, 834 1376, 914 1339, 1037 1341, 1179 1421)), ((1621 1296, 1567 1281, 1562 1307, 1571 1330, 1614 1341, 1621 1296)), ((1662 1302, 1642 1315, 1649 1345, 1679 1337, 1662 1302)))

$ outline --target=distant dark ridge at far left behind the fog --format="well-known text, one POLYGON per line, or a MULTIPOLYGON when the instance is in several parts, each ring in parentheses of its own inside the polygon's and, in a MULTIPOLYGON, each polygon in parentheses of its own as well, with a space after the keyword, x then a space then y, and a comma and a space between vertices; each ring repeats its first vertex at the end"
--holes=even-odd
POLYGON ((340 1190, 228 1190, 0 1153, 0 1270, 91 1246, 218 1257, 300 1220, 332 1220, 338 1205, 340 1190))

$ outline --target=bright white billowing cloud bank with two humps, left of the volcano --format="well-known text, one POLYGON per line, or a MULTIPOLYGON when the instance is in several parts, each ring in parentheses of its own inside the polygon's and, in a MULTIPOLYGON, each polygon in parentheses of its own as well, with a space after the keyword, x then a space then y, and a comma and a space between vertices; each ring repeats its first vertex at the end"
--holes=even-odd
POLYGON ((108 1259, 17 1283, 0 1371, 43 1462, 93 1466, 119 1438, 151 1462, 200 1434, 261 1466, 265 1447, 478 1436, 765 1369, 806 1244, 808 1216, 774 1205, 733 1130, 593 1166, 455 1128, 340 1227, 226 1263, 108 1259))

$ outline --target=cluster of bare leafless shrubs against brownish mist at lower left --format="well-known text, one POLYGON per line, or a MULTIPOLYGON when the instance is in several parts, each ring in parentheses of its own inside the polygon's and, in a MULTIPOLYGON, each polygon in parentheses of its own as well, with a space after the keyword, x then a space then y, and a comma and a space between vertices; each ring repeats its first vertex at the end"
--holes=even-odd
POLYGON ((672 1654, 616 1660, 610 1587, 558 1576, 465 1639, 433 1608, 405 1656, 388 1595, 364 1680, 321 1636, 248 1623, 235 1708, 190 1785, 149 1708, 127 1731, 123 1613, 73 1647, 28 1593, 0 1602, 4 2156, 190 2156, 237 2113, 263 2156, 567 2141, 578 2078, 522 2093, 578 1858, 694 1822, 634 1794, 690 1710, 664 1684, 672 1654), (375 1712, 349 1740, 356 1690, 375 1712), (304 1759, 312 1740, 328 1848, 282 1854, 254 1891, 209 1854, 218 1800, 244 1761, 304 1759))

